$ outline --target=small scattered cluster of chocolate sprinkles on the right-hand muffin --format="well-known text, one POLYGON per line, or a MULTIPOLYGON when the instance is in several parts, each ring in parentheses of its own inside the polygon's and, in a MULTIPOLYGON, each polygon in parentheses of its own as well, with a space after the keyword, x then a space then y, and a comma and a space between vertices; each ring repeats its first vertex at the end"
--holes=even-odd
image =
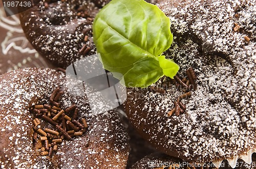
POLYGON ((187 69, 186 74, 188 79, 183 78, 181 80, 181 78, 178 75, 174 76, 174 80, 173 80, 174 84, 176 85, 177 89, 180 89, 181 91, 183 91, 184 94, 180 95, 177 101, 174 102, 174 108, 167 113, 167 117, 172 116, 174 113, 176 116, 183 114, 184 111, 186 110, 186 106, 180 101, 182 99, 187 99, 188 97, 191 96, 191 93, 189 91, 197 90, 197 85, 195 82, 195 80, 197 80, 197 76, 193 68, 190 67, 189 69, 187 69))

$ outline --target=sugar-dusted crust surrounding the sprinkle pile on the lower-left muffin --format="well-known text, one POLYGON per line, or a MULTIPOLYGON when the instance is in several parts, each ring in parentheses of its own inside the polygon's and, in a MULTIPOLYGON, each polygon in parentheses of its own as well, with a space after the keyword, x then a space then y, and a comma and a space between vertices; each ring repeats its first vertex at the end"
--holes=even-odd
MULTIPOLYGON (((71 83, 72 90, 79 91, 79 87, 76 86, 79 82, 71 83)), ((1 168, 125 168, 129 145, 118 112, 115 110, 92 112, 87 98, 79 95, 79 92, 76 96, 71 96, 67 85, 66 76, 52 69, 27 68, 0 76, 1 168), (64 92, 59 98, 60 106, 69 107, 65 109, 67 111, 72 109, 75 111, 76 108, 74 109, 73 106, 75 104, 79 108, 77 118, 87 120, 88 130, 71 140, 62 139, 56 154, 53 153, 49 158, 37 154, 34 150, 35 132, 29 108, 40 107, 46 103, 56 88, 64 92)), ((95 97, 101 96, 95 93, 95 97)), ((52 98, 54 100, 54 97, 52 98)), ((103 102, 97 102, 97 105, 102 109, 108 108, 103 102)), ((45 109, 47 107, 49 108, 49 105, 46 105, 45 109)), ((57 108, 52 106, 50 110, 55 112, 57 108)), ((48 123, 44 124, 47 127, 51 126, 48 123)), ((43 133, 43 136, 44 132, 38 131, 43 133)), ((39 142, 35 146, 42 147, 39 142)))

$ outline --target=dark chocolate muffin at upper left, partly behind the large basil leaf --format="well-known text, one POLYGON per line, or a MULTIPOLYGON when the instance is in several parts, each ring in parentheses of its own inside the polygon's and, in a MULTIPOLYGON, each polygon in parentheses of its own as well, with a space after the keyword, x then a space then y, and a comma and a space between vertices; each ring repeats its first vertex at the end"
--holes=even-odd
POLYGON ((20 13, 20 22, 33 47, 54 65, 66 68, 96 53, 92 21, 99 9, 108 2, 41 1, 20 13))

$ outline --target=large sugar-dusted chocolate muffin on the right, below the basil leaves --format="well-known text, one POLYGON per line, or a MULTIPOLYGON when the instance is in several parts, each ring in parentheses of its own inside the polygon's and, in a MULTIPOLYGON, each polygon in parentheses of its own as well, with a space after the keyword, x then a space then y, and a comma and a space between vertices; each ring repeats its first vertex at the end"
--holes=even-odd
POLYGON ((246 154, 256 147, 255 3, 166 0, 159 7, 174 34, 164 55, 180 65, 180 77, 194 68, 197 90, 182 100, 186 113, 169 119, 165 115, 180 95, 175 86, 165 94, 128 89, 127 116, 157 149, 184 160, 203 163, 246 154), (234 22, 244 31, 234 32, 234 22))

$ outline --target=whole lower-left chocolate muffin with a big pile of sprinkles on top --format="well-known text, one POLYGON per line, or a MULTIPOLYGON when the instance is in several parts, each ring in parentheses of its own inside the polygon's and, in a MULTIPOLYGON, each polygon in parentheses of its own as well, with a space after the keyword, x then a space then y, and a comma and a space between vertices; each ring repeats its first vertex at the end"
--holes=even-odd
POLYGON ((0 76, 1 168, 125 168, 130 149, 118 112, 92 111, 77 83, 52 69, 0 76))

